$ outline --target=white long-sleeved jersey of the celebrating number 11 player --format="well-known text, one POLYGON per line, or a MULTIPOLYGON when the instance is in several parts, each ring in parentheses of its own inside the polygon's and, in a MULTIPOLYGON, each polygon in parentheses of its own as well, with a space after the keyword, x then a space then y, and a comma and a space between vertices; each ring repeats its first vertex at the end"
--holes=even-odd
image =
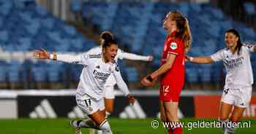
POLYGON ((100 100, 103 98, 103 90, 105 90, 105 83, 110 74, 113 74, 116 79, 118 87, 125 95, 129 94, 127 84, 121 78, 121 74, 116 62, 105 63, 102 58, 102 53, 99 52, 94 55, 57 55, 57 60, 77 63, 83 65, 82 73, 80 74, 80 82, 78 84, 77 93, 83 99, 83 96, 89 95, 92 98, 100 100))

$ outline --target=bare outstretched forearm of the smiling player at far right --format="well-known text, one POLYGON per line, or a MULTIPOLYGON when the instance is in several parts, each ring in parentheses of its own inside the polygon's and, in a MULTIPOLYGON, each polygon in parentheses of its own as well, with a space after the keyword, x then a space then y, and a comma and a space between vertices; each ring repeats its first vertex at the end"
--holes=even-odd
POLYGON ((199 64, 214 63, 214 60, 211 58, 211 56, 200 56, 200 57, 186 56, 186 59, 192 63, 199 63, 199 64))

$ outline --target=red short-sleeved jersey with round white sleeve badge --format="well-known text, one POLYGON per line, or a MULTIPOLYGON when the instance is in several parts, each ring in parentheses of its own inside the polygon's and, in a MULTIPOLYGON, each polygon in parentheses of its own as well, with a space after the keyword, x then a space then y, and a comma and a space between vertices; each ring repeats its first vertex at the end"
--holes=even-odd
POLYGON ((184 86, 185 78, 185 45, 184 41, 179 38, 173 38, 172 36, 176 32, 171 33, 165 40, 165 47, 162 52, 161 65, 166 63, 167 55, 176 55, 173 66, 162 75, 161 84, 176 85, 178 88, 184 86))

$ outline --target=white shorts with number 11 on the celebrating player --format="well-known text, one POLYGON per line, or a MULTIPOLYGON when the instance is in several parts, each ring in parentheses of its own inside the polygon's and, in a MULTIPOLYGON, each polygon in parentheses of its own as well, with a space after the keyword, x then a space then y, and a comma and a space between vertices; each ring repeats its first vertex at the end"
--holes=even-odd
POLYGON ((83 95, 83 99, 80 99, 79 95, 76 95, 76 101, 78 103, 78 107, 83 113, 86 115, 94 114, 96 111, 102 111, 105 109, 104 99, 96 100, 95 98, 91 98, 89 95, 83 95))

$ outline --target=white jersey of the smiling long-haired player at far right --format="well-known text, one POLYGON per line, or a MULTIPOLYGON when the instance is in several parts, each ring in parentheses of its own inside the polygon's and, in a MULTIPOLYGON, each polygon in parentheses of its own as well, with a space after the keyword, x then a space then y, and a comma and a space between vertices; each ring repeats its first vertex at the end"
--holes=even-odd
POLYGON ((215 62, 222 61, 227 71, 225 88, 237 89, 241 87, 251 87, 253 84, 252 65, 250 52, 254 52, 252 46, 243 45, 240 55, 233 54, 228 48, 219 50, 211 59, 215 62))

